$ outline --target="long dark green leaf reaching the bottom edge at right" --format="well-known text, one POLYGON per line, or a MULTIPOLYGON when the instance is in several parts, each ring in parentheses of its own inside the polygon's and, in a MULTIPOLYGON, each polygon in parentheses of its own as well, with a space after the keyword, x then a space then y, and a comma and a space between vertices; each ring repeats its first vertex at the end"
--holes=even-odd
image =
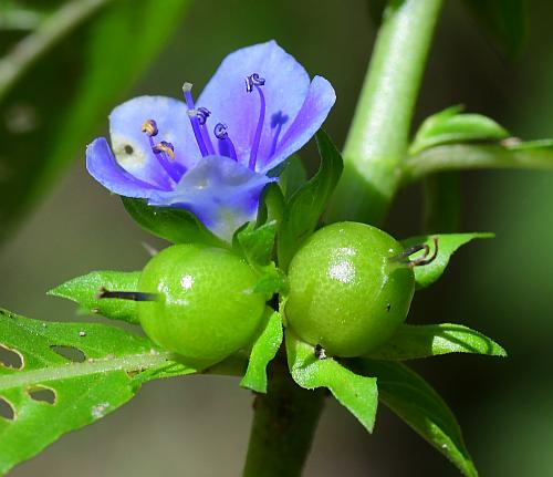
POLYGON ((376 376, 380 401, 444 454, 467 477, 478 471, 453 414, 422 377, 389 361, 356 360, 364 374, 376 376))

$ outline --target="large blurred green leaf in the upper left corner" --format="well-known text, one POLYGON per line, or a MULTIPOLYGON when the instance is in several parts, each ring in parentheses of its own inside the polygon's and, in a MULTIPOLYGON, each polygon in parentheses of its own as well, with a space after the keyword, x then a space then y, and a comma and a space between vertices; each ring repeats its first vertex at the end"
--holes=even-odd
POLYGON ((10 144, 0 154, 0 238, 84 156, 98 123, 106 124, 190 3, 67 1, 0 59, 0 111, 8 118, 0 135, 10 144))

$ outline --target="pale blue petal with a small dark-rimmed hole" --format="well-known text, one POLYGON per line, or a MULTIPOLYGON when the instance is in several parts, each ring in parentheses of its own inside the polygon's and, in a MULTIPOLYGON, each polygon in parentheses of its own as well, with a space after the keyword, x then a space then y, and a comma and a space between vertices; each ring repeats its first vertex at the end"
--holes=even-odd
POLYGON ((135 97, 112 111, 109 134, 113 152, 117 162, 135 177, 168 188, 174 184, 152 153, 148 136, 142 132, 147 120, 157 123, 159 133, 154 141, 171 143, 175 160, 179 164, 189 169, 201 158, 186 105, 165 96, 135 97))

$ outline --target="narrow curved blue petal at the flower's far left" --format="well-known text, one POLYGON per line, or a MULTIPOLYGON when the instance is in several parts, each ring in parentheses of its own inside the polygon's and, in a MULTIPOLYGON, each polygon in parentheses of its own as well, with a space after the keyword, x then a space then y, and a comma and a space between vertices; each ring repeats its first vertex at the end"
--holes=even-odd
POLYGON ((86 147, 86 168, 100 184, 121 196, 148 198, 160 190, 158 186, 138 179, 121 167, 105 137, 94 139, 86 147))

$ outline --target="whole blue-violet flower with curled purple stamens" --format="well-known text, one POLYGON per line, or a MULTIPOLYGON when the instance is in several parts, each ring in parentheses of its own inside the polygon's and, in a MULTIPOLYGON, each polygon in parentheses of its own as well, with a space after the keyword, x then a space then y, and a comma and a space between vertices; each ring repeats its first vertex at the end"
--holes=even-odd
POLYGON ((86 167, 111 191, 188 209, 229 240, 255 217, 275 180, 268 172, 315 134, 335 93, 274 41, 229 54, 196 103, 191 84, 182 91, 184 102, 140 96, 117 106, 112 147, 96 138, 86 167))

